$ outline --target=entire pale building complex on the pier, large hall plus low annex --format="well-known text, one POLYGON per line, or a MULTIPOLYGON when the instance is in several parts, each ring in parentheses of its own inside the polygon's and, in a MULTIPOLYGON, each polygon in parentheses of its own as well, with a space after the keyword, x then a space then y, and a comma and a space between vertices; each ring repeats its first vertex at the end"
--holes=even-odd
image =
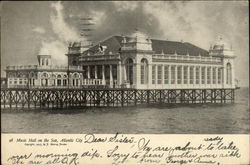
POLYGON ((53 66, 39 55, 38 65, 8 66, 8 88, 235 88, 234 53, 222 38, 204 50, 187 42, 150 39, 136 31, 96 45, 70 43, 68 66, 53 66))

